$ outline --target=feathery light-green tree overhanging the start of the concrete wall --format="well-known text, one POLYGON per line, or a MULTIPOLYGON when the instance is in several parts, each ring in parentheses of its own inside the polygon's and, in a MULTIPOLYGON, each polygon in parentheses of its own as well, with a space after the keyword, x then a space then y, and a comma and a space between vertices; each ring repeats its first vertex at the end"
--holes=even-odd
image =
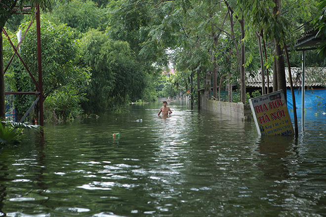
MULTIPOLYGON (((216 62, 212 52, 218 43, 218 26, 223 26, 220 19, 219 4, 213 1, 151 1, 155 5, 156 24, 151 27, 150 38, 144 43, 146 46, 159 43, 162 47, 173 50, 170 55, 178 72, 182 72, 188 80, 189 88, 193 93, 194 78, 197 74, 197 89, 200 89, 200 77, 211 69, 216 77, 216 62), (213 16, 216 14, 216 16, 213 16), (211 65, 214 67, 211 68, 211 65)), ((150 47, 150 46, 149 46, 150 47)), ((145 49, 144 46, 142 50, 145 49)), ((213 90, 216 95, 216 79, 213 79, 213 90)), ((198 93, 199 94, 199 93, 198 93)), ((193 106, 194 94, 191 95, 193 106)))

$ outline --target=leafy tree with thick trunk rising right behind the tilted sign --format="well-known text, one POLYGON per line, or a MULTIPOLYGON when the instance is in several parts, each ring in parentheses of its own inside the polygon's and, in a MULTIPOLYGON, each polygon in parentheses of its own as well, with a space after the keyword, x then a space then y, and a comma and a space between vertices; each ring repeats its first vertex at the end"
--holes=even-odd
MULTIPOLYGON (((277 57, 277 74, 274 87, 285 91, 285 71, 284 71, 284 44, 292 42, 302 31, 303 24, 306 24, 316 13, 316 1, 308 0, 255 0, 248 5, 251 21, 250 27, 257 27, 258 31, 263 31, 264 40, 273 42, 275 45, 275 56, 277 57), (282 6, 282 7, 281 7, 282 6)), ((309 26, 309 25, 307 25, 309 26)), ((274 69, 275 70, 275 69, 274 69)))

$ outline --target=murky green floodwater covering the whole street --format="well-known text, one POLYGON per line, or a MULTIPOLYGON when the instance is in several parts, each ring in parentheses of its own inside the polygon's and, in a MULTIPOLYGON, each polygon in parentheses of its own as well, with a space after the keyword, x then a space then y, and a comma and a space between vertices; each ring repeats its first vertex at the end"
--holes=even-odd
POLYGON ((185 102, 162 118, 161 106, 47 124, 43 143, 1 147, 0 216, 326 216, 326 114, 307 111, 297 139, 259 138, 253 121, 185 102))

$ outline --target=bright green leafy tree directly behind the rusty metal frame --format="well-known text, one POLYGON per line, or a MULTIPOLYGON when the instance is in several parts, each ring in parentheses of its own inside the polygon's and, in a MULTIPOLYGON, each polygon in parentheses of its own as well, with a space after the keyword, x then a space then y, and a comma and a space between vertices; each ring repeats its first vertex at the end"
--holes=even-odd
MULTIPOLYGON (((21 25, 24 31, 28 23, 21 25)), ((32 25, 27 32, 21 45, 21 57, 29 67, 34 78, 38 80, 38 60, 36 42, 36 25, 32 25)), ((73 37, 74 33, 66 25, 55 25, 41 19, 41 47, 42 47, 42 80, 43 99, 62 88, 65 85, 73 85, 82 99, 87 82, 89 81, 89 70, 76 67, 74 63, 77 58, 78 41, 73 37)), ((35 86, 25 68, 19 61, 14 61, 9 68, 9 73, 14 73, 11 86, 14 91, 35 91, 35 86)), ((32 102, 33 96, 16 97, 16 108, 18 113, 24 114, 32 102)), ((37 110, 38 111, 38 107, 37 110)), ((36 112, 38 113, 38 112, 36 112)))

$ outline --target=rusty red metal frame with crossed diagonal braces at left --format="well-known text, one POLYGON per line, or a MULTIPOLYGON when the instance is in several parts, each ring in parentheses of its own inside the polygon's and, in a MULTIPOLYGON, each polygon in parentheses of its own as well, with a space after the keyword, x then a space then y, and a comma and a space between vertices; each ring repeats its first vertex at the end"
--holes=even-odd
MULTIPOLYGON (((23 7, 23 11, 26 11, 28 9, 30 9, 30 6, 25 6, 23 7)), ((40 5, 37 4, 36 8, 35 8, 35 18, 36 18, 36 27, 37 27, 37 46, 38 46, 38 71, 39 71, 39 82, 36 81, 36 79, 34 78, 34 76, 32 75, 32 73, 30 72, 30 70, 28 69, 27 65, 25 64, 25 62, 23 61, 23 59, 21 58, 21 56, 18 53, 18 48, 22 42, 22 40, 24 39, 24 37, 26 36, 26 33, 28 32, 28 30, 30 29, 30 27, 33 24, 33 19, 31 20, 27 30, 25 31, 24 35, 22 36, 22 40, 18 43, 17 47, 14 46, 14 44, 12 43, 10 37, 8 36, 8 34, 5 32, 5 30, 3 29, 2 32, 3 34, 7 37, 10 45, 12 46, 13 50, 14 50, 14 54, 12 55, 9 63, 7 64, 6 68, 4 69, 4 73, 7 71, 9 65, 11 64, 13 58, 15 55, 18 56, 18 58, 20 59, 20 61, 22 62, 22 64, 24 65, 25 69, 27 70, 27 72, 29 73, 30 77, 32 78, 36 88, 37 88, 37 92, 5 92, 4 94, 18 94, 18 95, 22 95, 22 94, 28 94, 28 95, 38 95, 38 99, 39 103, 40 103, 40 125, 43 126, 44 125, 44 116, 43 116, 43 82, 42 82, 42 64, 41 64, 41 24, 40 24, 40 5)), ((20 9, 17 9, 17 11, 20 9)), ((23 12, 24 14, 30 14, 29 12, 23 12)), ((36 101, 37 102, 37 101, 36 101)), ((32 105, 32 107, 34 107, 35 104, 32 105)), ((32 108, 31 107, 31 108, 32 108)), ((31 110, 31 108, 29 110, 31 110)), ((25 116, 25 115, 24 115, 25 116)), ((27 116, 27 115, 26 115, 27 116)), ((22 122, 23 120, 21 120, 22 122)))

